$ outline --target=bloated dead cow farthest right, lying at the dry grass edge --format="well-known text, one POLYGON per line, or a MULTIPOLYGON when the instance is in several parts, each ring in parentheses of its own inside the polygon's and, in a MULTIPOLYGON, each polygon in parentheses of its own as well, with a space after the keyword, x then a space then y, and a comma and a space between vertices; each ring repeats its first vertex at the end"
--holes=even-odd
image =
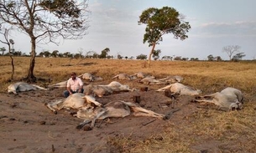
POLYGON ((196 102, 207 102, 229 110, 241 110, 243 108, 243 94, 239 89, 227 87, 221 92, 198 96, 196 102))

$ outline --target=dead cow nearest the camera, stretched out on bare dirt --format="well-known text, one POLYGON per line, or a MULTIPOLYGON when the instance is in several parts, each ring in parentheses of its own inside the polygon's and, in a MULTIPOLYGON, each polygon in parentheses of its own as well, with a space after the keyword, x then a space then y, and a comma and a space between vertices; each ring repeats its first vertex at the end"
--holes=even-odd
POLYGON ((104 120, 110 117, 123 118, 128 115, 148 116, 160 120, 165 119, 165 115, 155 113, 151 110, 146 110, 138 105, 135 105, 135 103, 119 100, 110 102, 107 105, 104 105, 103 107, 96 107, 93 110, 78 110, 76 117, 83 119, 84 121, 80 125, 77 125, 76 129, 81 129, 84 125, 90 122, 90 128, 92 129, 95 125, 96 120, 104 120))

